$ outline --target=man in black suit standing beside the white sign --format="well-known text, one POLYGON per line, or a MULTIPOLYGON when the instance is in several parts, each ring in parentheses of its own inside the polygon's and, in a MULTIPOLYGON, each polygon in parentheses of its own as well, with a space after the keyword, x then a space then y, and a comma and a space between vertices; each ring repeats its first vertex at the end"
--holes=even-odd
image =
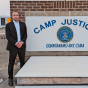
POLYGON ((27 29, 23 22, 19 21, 18 12, 12 13, 13 21, 6 24, 6 38, 8 40, 6 50, 9 50, 9 64, 8 64, 8 75, 9 75, 9 86, 13 86, 13 66, 15 58, 18 54, 20 59, 20 68, 25 64, 25 48, 27 29))

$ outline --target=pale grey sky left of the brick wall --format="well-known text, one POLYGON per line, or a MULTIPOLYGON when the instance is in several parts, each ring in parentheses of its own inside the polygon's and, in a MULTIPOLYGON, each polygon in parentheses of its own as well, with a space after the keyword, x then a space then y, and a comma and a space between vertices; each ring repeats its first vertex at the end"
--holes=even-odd
POLYGON ((10 0, 0 0, 0 16, 10 16, 10 0))

